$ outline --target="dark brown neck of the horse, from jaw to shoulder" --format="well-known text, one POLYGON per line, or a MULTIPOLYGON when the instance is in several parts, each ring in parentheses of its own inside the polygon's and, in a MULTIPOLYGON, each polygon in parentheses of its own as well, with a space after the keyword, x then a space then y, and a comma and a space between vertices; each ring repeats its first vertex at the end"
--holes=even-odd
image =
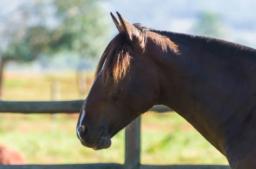
POLYGON ((225 135, 237 132, 256 106, 256 80, 249 78, 256 74, 256 50, 208 37, 163 35, 178 45, 179 53, 162 52, 148 43, 148 53, 161 72, 162 104, 224 153, 225 135), (236 125, 227 126, 230 119, 236 125))

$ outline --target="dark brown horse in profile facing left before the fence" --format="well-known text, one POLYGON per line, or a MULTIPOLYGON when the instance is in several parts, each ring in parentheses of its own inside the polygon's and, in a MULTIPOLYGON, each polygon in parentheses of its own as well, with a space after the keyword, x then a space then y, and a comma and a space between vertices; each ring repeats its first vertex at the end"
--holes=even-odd
POLYGON ((109 148, 116 133, 162 104, 191 123, 232 169, 255 169, 256 50, 149 29, 117 14, 111 16, 119 34, 105 49, 81 108, 82 145, 109 148))

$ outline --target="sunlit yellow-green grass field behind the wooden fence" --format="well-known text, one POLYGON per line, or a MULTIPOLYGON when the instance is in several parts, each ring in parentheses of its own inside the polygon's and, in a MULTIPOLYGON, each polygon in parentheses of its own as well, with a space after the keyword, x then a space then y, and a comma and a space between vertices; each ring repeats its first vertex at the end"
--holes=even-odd
MULTIPOLYGON (((87 74, 90 89, 92 74, 87 74)), ((51 79, 60 83, 60 100, 79 95, 76 74, 20 76, 5 74, 3 100, 51 100, 51 79)), ((78 115, 0 115, 0 144, 21 152, 29 164, 124 163, 124 130, 110 149, 94 151, 76 137, 78 115)), ((228 164, 186 120, 175 112, 142 117, 143 164, 228 164)))

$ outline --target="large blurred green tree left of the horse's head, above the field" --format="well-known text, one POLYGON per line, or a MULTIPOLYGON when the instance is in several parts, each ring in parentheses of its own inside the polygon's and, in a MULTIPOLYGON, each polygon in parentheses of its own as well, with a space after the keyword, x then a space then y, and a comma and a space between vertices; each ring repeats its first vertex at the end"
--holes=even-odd
POLYGON ((100 56, 108 40, 105 16, 99 0, 37 0, 0 14, 0 96, 4 66, 10 60, 31 62, 65 51, 100 56))

